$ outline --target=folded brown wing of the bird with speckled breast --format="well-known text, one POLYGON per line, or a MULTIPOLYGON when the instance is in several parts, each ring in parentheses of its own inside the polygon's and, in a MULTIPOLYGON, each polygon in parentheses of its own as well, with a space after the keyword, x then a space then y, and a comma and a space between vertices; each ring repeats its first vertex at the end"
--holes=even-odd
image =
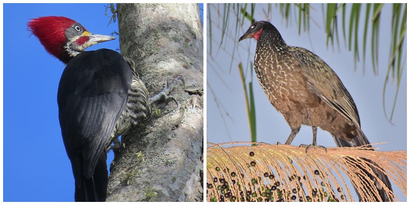
POLYGON ((301 59, 298 64, 311 91, 360 127, 360 118, 353 98, 329 65, 307 49, 291 47, 290 52, 296 55, 297 59, 301 59))

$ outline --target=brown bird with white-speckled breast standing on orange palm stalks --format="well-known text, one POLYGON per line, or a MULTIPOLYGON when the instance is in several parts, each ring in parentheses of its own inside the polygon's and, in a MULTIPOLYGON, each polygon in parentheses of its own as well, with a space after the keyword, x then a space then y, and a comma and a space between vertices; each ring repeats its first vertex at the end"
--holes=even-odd
MULTIPOLYGON (((311 146, 317 146, 317 127, 330 132, 338 147, 370 144, 360 128, 352 96, 319 56, 307 49, 286 45, 269 22, 253 23, 239 42, 246 38, 257 40, 254 68, 259 84, 291 127, 286 145, 291 144, 302 125, 312 127, 311 146)), ((392 190, 387 176, 380 170, 373 171, 392 190)), ((366 173, 374 179, 372 174, 366 173)), ((376 198, 393 200, 380 184, 377 185, 380 196, 376 198)))

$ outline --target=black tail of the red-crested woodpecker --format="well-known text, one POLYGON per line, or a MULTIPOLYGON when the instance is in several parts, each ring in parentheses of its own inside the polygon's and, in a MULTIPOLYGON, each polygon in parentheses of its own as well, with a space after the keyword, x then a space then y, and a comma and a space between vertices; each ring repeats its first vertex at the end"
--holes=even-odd
POLYGON ((80 187, 75 186, 75 201, 106 201, 108 170, 107 153, 101 153, 91 178, 81 175, 80 187))

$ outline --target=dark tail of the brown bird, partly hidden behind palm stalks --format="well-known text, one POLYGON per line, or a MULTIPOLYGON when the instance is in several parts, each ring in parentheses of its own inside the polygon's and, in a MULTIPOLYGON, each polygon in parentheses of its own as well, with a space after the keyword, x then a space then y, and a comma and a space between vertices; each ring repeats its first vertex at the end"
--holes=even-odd
MULTIPOLYGON (((357 129, 357 132, 358 132, 358 136, 353 138, 351 141, 347 141, 347 140, 338 138, 334 135, 332 135, 332 136, 333 136, 333 139, 336 142, 337 147, 360 147, 360 146, 363 146, 363 145, 370 144, 370 142, 368 141, 366 135, 364 135, 363 131, 360 128, 357 129)), ((368 147, 371 148, 372 146, 369 145, 368 147)), ((368 160, 368 159, 364 159, 364 160, 372 163, 374 165, 374 167, 378 168, 378 169, 376 169, 376 168, 372 167, 373 172, 377 176, 374 176, 373 174, 368 173, 366 170, 362 169, 368 175, 368 177, 371 178, 372 180, 373 180, 374 177, 380 178, 380 180, 383 181, 383 183, 386 185, 386 187, 388 189, 392 190, 392 185, 391 185, 390 181, 388 180, 387 176, 380 171, 380 170, 382 170, 382 168, 380 168, 378 165, 376 165, 371 160, 368 160)), ((382 199, 382 201, 393 201, 393 198, 390 197, 380 185, 377 186, 377 189, 379 191, 379 195, 380 195, 380 198, 382 199)), ((355 190, 356 190, 356 193, 359 195, 356 187, 355 187, 355 190)), ((361 196, 359 196, 359 197, 361 197, 361 196)), ((361 198, 363 198, 363 197, 361 197, 361 198)), ((375 197, 375 198, 378 198, 378 197, 375 197)))

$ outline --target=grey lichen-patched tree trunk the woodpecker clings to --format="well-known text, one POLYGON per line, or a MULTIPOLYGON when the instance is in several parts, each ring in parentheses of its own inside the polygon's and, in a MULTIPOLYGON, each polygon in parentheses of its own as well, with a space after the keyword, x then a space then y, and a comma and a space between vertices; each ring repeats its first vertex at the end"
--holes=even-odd
POLYGON ((203 200, 203 35, 197 4, 118 4, 121 54, 150 95, 176 76, 171 101, 122 136, 107 201, 203 200))

